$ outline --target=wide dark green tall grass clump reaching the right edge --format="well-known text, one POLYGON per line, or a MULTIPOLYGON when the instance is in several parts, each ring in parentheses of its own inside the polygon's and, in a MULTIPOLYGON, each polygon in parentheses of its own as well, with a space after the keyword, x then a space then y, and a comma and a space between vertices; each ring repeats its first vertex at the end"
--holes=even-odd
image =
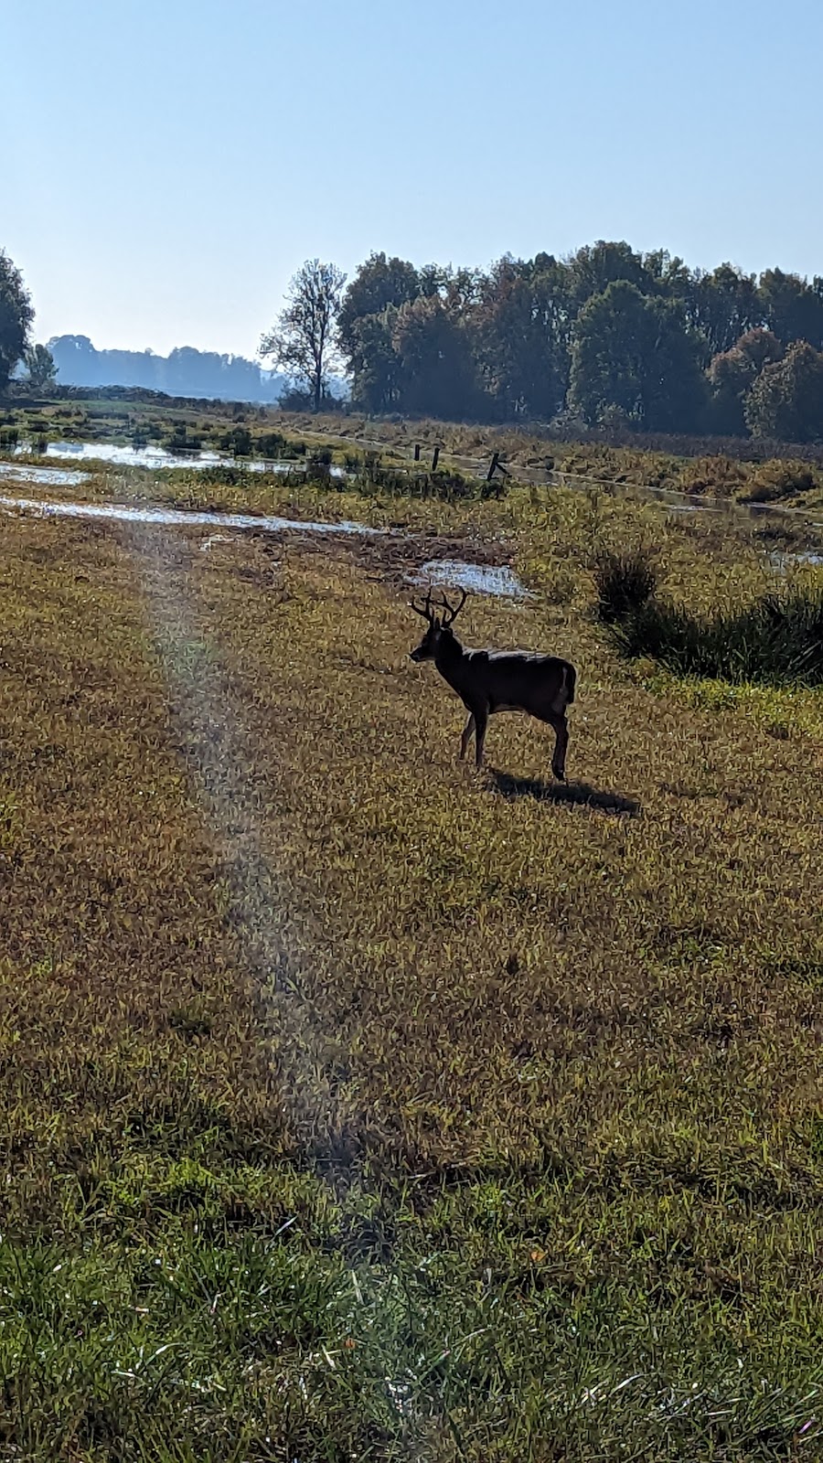
POLYGON ((769 593, 709 616, 649 598, 615 619, 611 632, 625 655, 681 676, 823 685, 823 585, 769 593))

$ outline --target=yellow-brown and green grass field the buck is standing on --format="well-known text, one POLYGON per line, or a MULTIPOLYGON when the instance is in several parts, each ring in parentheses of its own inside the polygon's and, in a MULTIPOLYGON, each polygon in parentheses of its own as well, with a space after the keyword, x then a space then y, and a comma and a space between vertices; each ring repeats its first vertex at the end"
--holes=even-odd
POLYGON ((600 544, 696 607, 763 547, 368 516, 417 547, 3 518, 0 1457, 822 1457, 823 701, 592 616, 600 544), (578 666, 568 787, 518 718, 457 762, 433 544, 578 666))

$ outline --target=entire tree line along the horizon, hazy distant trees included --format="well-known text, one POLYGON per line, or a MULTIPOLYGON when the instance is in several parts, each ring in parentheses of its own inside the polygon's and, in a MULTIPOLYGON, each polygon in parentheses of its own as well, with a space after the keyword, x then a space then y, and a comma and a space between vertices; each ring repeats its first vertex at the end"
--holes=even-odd
MULTIPOLYGON (((38 391, 57 364, 81 385, 130 375, 126 385, 250 401, 271 389, 256 363, 190 348, 158 357, 60 336, 51 354, 32 345, 32 322, 0 250, 0 394, 21 361, 38 391)), ((308 260, 261 356, 288 373, 288 405, 313 410, 340 405, 341 370, 353 405, 373 414, 823 439, 823 277, 691 269, 624 241, 507 255, 488 271, 372 253, 350 281, 308 260)))

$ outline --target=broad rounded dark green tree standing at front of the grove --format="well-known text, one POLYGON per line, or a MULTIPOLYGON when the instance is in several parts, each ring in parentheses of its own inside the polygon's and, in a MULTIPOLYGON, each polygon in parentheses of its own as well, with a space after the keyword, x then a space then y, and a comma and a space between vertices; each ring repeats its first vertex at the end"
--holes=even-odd
POLYGON ((570 398, 592 424, 617 411, 640 430, 697 430, 706 380, 678 306, 625 281, 593 296, 574 328, 570 398))

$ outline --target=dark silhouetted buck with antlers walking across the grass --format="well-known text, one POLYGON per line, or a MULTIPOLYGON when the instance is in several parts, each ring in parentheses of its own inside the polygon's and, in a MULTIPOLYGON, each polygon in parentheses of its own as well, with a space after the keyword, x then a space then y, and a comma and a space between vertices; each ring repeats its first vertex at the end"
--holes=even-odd
POLYGON ((461 590, 461 595, 454 609, 445 594, 433 604, 431 590, 423 604, 411 600, 411 609, 428 620, 429 628, 410 655, 414 661, 433 660, 469 712, 460 739, 460 758, 466 758, 474 734, 474 758, 477 767, 482 767, 489 717, 495 711, 526 711, 554 729, 552 772, 561 783, 565 781, 565 708, 574 701, 574 666, 556 655, 537 655, 526 650, 469 650, 461 645, 451 628, 466 604, 466 590, 461 590))

